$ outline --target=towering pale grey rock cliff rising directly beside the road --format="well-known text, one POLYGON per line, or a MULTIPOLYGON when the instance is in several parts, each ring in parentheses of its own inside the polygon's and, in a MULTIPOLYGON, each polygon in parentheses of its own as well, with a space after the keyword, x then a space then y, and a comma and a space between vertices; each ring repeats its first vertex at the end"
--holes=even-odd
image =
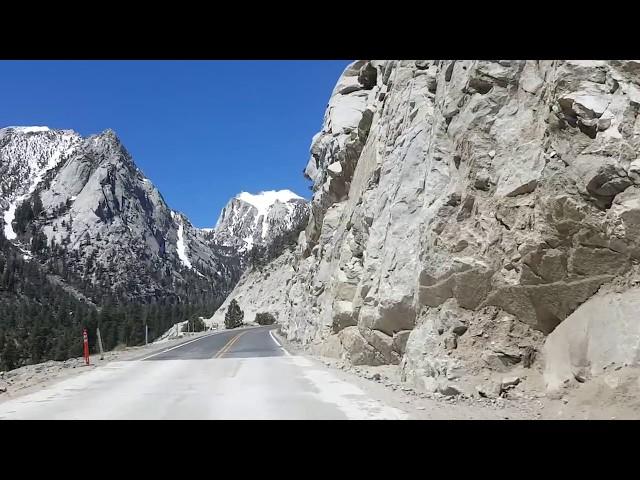
POLYGON ((416 384, 538 365, 640 256, 639 110, 637 61, 354 62, 263 301, 290 340, 416 384))

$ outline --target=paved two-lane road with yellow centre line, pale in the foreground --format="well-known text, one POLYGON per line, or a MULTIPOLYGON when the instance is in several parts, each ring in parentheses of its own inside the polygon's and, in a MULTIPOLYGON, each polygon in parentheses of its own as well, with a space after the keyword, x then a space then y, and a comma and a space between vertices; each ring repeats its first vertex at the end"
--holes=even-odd
POLYGON ((402 419, 404 412, 308 358, 273 327, 214 333, 111 362, 0 404, 0 419, 402 419))

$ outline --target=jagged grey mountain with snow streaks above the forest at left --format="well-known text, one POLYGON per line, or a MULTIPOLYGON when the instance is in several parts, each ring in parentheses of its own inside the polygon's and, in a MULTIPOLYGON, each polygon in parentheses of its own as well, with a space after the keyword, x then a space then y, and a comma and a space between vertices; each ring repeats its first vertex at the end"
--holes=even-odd
POLYGON ((95 299, 220 303, 240 276, 235 258, 167 206, 110 130, 82 138, 2 129, 0 159, 5 236, 95 299))

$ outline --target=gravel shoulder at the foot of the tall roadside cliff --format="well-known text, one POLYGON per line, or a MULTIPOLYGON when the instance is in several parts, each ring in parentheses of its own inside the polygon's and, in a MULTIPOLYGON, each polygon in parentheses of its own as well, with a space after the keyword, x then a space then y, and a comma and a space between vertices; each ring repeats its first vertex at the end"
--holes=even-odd
POLYGON ((397 365, 351 366, 278 340, 291 354, 305 356, 333 370, 341 380, 357 385, 373 398, 399 408, 414 420, 609 420, 640 419, 640 369, 624 367, 608 376, 547 394, 541 375, 528 371, 522 382, 497 398, 477 393, 442 395, 421 392, 401 381, 397 365))

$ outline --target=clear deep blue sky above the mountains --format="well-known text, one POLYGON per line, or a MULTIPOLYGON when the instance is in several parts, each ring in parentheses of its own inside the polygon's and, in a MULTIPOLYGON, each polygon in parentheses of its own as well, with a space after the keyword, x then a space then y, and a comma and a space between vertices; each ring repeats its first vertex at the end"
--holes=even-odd
POLYGON ((113 129, 169 206, 211 227, 302 170, 341 61, 0 61, 0 127, 113 129))

